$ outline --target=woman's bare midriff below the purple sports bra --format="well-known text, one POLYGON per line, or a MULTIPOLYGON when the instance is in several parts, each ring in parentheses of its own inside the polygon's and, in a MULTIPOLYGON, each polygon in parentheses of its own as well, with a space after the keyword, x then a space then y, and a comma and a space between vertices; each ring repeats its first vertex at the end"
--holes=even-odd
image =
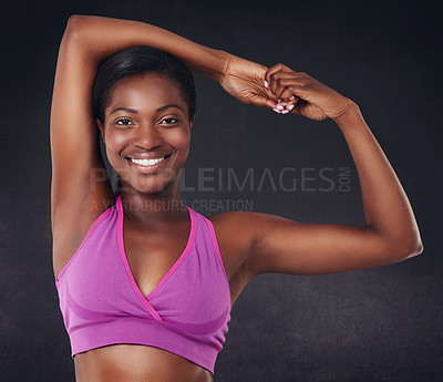
POLYGON ((214 382, 213 374, 168 351, 113 344, 74 357, 76 382, 214 382))

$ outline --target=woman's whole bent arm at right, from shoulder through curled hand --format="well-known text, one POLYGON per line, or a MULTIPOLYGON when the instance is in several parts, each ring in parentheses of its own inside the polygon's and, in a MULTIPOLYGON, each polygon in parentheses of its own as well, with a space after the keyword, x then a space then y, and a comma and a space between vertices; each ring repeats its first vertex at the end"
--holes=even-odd
MULTIPOLYGON (((228 74, 229 75, 229 69, 228 74)), ((348 142, 358 171, 365 225, 305 224, 257 213, 223 213, 212 217, 233 296, 256 275, 318 275, 377 267, 423 250, 414 214, 393 168, 351 100, 306 73, 277 64, 264 81, 284 107, 284 118, 301 114, 332 118, 348 142), (236 235, 233 235, 236 233, 236 235)))

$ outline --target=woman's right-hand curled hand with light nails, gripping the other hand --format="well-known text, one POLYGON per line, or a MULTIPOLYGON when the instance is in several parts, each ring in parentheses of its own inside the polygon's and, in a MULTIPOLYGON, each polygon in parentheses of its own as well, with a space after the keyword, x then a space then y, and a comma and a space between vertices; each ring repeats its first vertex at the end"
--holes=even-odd
POLYGON ((296 113, 310 120, 337 121, 353 102, 306 73, 278 63, 265 73, 265 86, 280 100, 277 113, 296 113))

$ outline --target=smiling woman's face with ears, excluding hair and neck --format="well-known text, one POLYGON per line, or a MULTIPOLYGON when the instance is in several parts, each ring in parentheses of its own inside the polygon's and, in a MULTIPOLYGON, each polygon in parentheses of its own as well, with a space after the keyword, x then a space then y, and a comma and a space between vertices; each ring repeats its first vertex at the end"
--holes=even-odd
POLYGON ((96 122, 123 189, 178 192, 192 123, 187 103, 172 81, 151 73, 121 80, 105 109, 104 124, 96 122))

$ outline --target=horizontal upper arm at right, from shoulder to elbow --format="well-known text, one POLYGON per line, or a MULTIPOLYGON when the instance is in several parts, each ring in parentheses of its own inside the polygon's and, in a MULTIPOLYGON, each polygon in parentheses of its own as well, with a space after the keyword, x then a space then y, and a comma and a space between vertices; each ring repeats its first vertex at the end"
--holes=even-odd
POLYGON ((260 273, 333 273, 421 252, 412 239, 385 237, 369 227, 299 223, 247 211, 219 214, 213 221, 227 268, 241 280, 239 290, 260 273))

